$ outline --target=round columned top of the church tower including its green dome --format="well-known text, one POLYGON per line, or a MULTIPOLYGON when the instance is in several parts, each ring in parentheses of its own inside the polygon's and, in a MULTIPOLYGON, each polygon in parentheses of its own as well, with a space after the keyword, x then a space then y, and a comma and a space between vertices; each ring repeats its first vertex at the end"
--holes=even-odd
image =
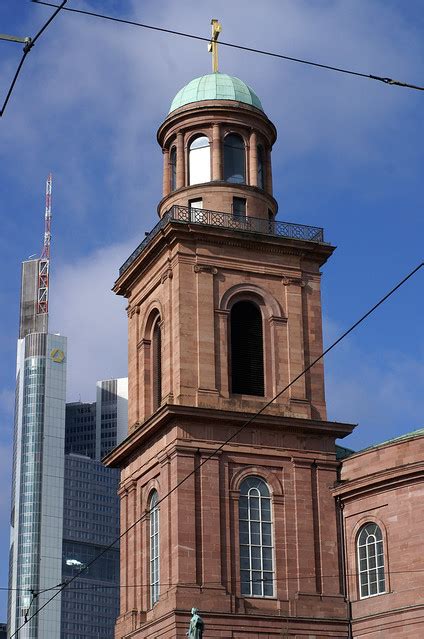
POLYGON ((192 80, 175 96, 157 137, 164 157, 160 217, 178 205, 275 219, 277 132, 247 84, 222 73, 192 80))

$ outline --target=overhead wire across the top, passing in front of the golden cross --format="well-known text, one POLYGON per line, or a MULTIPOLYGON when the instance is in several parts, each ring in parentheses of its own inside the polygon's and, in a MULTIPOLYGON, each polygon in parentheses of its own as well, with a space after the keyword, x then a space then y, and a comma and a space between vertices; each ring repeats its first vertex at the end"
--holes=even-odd
MULTIPOLYGON (((47 7, 57 7, 57 4, 52 2, 45 2, 44 0, 32 0, 35 4, 42 4, 47 7)), ((104 13, 96 13, 94 11, 87 11, 85 9, 73 9, 71 7, 64 7, 64 11, 69 11, 71 13, 79 13, 86 16, 92 16, 95 18, 101 18, 103 20, 110 20, 112 22, 119 22, 121 24, 128 24, 134 27, 141 27, 143 29, 150 29, 151 31, 159 31, 161 33, 169 33, 171 35, 180 36, 183 38, 190 38, 192 40, 200 40, 202 42, 210 42, 210 37, 206 38, 204 36, 198 36, 193 33, 186 33, 184 31, 176 31, 175 29, 166 29, 165 27, 157 27, 151 24, 145 24, 143 22, 136 22, 135 20, 126 20, 125 18, 116 18, 115 16, 109 16, 104 13)), ((327 69, 328 71, 336 71, 337 73, 345 73, 347 75, 358 76, 360 78, 368 78, 369 80, 377 80, 379 82, 384 82, 384 84, 391 84, 394 86, 400 86, 408 89, 415 89, 417 91, 424 91, 424 86, 418 86, 415 84, 410 84, 408 82, 402 82, 400 80, 394 80, 393 78, 388 78, 384 76, 374 75, 370 73, 361 73, 360 71, 353 71, 352 69, 345 69, 343 67, 333 66, 330 64, 322 64, 320 62, 313 62, 312 60, 304 60, 302 58, 295 58, 293 56, 284 55, 282 53, 275 53, 273 51, 265 51, 263 49, 256 49, 254 47, 247 47, 241 44, 235 44, 234 42, 225 42, 223 40, 219 40, 219 44, 224 47, 231 47, 233 49, 240 49, 241 51, 249 51, 251 53, 257 53, 260 55, 266 55, 273 58, 279 58, 282 60, 288 60, 290 62, 297 62, 299 64, 306 64, 312 67, 318 67, 320 69, 327 69)))

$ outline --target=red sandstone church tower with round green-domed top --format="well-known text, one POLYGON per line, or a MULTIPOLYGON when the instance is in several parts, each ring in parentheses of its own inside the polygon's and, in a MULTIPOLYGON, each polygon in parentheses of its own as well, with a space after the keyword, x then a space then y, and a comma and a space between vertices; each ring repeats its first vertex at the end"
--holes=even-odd
POLYGON ((119 639, 182 639, 192 607, 208 638, 348 636, 330 489, 352 426, 326 421, 322 364, 252 419, 322 351, 333 252, 276 218, 276 136, 218 72, 159 127, 159 222, 114 286, 129 319, 129 434, 106 458, 131 527, 119 639))

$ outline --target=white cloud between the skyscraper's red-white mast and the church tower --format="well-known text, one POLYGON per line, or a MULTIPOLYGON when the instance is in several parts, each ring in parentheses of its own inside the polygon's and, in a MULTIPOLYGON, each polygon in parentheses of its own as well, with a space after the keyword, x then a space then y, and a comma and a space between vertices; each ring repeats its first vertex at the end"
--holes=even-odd
POLYGON ((94 401, 97 380, 127 375, 126 300, 110 289, 134 248, 113 245, 56 269, 50 331, 68 338, 68 401, 94 401))

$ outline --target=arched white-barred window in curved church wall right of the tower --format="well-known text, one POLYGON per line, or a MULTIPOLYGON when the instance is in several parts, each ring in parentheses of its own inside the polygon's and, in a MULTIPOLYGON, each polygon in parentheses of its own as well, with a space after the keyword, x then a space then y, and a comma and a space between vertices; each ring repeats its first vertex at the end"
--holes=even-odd
POLYGON ((362 526, 357 539, 359 592, 361 599, 386 592, 383 535, 377 524, 362 526))

